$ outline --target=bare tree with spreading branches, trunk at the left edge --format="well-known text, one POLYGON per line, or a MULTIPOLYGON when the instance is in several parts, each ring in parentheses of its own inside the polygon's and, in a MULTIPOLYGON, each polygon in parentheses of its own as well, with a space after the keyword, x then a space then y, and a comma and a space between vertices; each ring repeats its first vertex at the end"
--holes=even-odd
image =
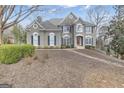
POLYGON ((5 29, 23 21, 39 6, 23 6, 23 5, 0 5, 0 45, 2 44, 2 36, 5 29))

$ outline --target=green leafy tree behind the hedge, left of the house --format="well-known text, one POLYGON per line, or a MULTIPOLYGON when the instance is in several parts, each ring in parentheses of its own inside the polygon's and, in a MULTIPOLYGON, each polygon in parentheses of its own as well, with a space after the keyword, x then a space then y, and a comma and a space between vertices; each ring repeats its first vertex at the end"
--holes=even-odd
POLYGON ((15 39, 15 43, 26 43, 26 32, 21 25, 15 25, 12 30, 12 34, 15 39))

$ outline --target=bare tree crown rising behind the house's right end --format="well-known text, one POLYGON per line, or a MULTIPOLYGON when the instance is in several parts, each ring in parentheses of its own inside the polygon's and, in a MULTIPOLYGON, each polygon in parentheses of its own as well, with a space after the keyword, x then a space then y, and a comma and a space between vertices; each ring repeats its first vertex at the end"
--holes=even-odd
POLYGON ((109 20, 109 12, 105 6, 95 6, 87 11, 88 19, 91 23, 95 24, 96 31, 98 33, 99 29, 106 25, 109 20))

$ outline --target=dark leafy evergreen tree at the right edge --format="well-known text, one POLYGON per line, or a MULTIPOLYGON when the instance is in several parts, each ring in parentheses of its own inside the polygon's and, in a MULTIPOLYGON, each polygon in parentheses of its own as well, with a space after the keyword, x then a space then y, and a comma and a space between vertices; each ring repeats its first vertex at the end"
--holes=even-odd
POLYGON ((112 42, 110 43, 111 49, 115 52, 117 57, 124 55, 124 16, 120 12, 120 9, 124 9, 122 6, 115 6, 116 15, 110 23, 109 35, 113 37, 112 42))

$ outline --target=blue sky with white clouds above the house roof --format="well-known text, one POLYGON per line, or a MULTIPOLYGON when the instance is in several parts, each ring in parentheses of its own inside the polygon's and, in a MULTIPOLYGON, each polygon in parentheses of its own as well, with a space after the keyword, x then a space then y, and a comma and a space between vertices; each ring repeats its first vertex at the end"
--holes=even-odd
MULTIPOLYGON (((42 20, 49 20, 52 18, 64 18, 70 12, 73 12, 76 16, 81 17, 83 20, 87 20, 87 11, 95 6, 93 5, 44 5, 41 6, 40 12, 35 12, 34 14, 30 15, 26 18, 21 24, 26 27, 30 24, 37 16, 41 16, 42 20)), ((104 5, 106 10, 109 12, 110 16, 113 16, 115 11, 113 6, 111 5, 104 5)))

